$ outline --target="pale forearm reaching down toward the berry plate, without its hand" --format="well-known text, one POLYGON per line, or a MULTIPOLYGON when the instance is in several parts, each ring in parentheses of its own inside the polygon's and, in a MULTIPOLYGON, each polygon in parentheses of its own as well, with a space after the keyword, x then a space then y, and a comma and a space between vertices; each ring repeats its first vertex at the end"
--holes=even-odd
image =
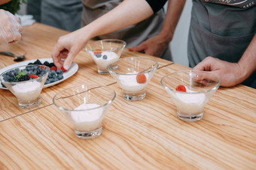
POLYGON ((116 31, 128 25, 140 22, 153 14, 153 10, 145 0, 126 0, 89 25, 81 28, 87 38, 116 31))

